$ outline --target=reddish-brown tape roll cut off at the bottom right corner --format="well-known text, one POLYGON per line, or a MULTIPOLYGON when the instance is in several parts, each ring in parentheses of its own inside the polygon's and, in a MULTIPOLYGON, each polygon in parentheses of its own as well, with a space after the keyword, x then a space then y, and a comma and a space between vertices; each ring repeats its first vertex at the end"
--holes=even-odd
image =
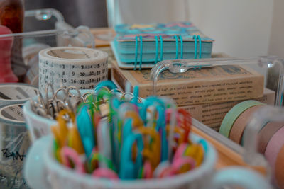
POLYGON ((281 147, 275 162, 275 180, 279 188, 284 188, 284 145, 281 147))

